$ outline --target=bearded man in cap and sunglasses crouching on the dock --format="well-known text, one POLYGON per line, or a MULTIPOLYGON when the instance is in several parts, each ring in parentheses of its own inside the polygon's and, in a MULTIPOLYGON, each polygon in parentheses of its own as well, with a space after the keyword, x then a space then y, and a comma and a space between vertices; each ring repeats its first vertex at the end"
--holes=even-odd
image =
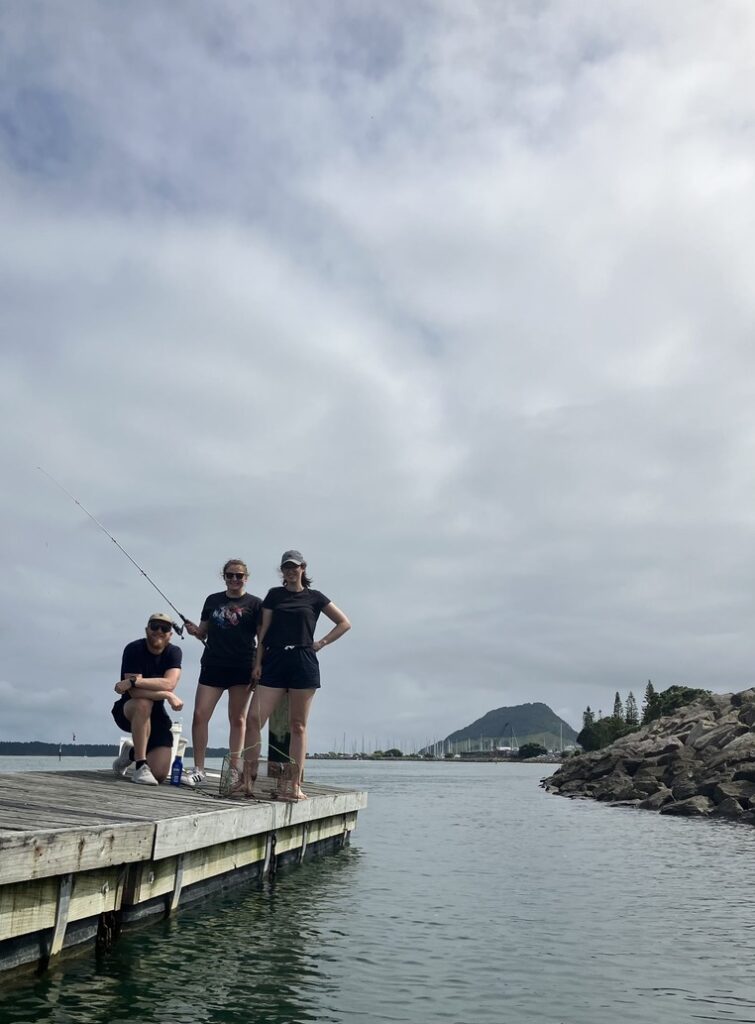
POLYGON ((174 693, 182 651, 170 642, 172 631, 173 624, 164 612, 150 615, 146 636, 124 648, 121 678, 115 686, 121 699, 113 705, 113 718, 119 729, 131 733, 133 743, 124 744, 113 771, 125 775, 133 763, 133 781, 141 785, 157 785, 170 774, 173 734, 165 701, 173 711, 183 707, 174 693))

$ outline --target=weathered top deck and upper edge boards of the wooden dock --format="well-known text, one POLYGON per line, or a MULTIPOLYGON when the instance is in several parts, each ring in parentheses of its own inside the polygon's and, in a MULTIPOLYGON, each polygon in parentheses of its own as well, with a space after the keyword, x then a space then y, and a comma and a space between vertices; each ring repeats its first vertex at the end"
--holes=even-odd
MULTIPOLYGON (((162 860, 366 804, 362 793, 307 790, 308 801, 292 804, 134 786, 107 771, 0 774, 0 885, 162 860)), ((275 780, 260 778, 257 792, 270 796, 275 780)))

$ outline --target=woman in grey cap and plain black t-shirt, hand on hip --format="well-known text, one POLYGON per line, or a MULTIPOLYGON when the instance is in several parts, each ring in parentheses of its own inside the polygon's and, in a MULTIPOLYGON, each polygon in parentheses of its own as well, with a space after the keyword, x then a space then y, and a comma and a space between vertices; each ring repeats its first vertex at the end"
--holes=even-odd
POLYGON ((306 757, 306 723, 312 697, 320 688, 318 652, 351 628, 340 608, 329 597, 313 590, 300 551, 281 556, 283 587, 274 587, 262 601, 262 624, 252 679, 257 687, 247 717, 247 752, 244 758, 244 795, 254 795, 260 734, 283 693, 289 695, 291 731, 290 784, 279 788, 284 800, 306 800, 301 792, 301 768, 306 757), (334 625, 314 639, 320 613, 334 625))

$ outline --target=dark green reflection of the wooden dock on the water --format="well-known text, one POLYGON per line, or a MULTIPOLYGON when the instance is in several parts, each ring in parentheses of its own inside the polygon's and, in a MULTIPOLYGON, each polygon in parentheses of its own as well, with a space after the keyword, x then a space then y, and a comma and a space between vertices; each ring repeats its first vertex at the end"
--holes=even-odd
POLYGON ((337 982, 324 973, 330 936, 355 884, 361 853, 345 850, 125 933, 41 976, 15 978, 0 995, 2 1024, 121 1021, 145 1024, 290 1024, 337 1021, 337 982))

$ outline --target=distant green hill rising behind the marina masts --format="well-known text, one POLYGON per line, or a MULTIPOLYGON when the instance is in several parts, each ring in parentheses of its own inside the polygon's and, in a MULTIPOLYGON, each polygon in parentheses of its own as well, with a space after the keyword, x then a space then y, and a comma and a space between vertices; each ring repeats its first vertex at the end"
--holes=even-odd
POLYGON ((471 725, 457 729, 446 737, 452 748, 467 743, 472 750, 490 749, 491 745, 511 746, 522 743, 542 743, 547 750, 574 743, 577 733, 562 718, 544 703, 515 705, 513 708, 496 708, 478 718, 471 725))

